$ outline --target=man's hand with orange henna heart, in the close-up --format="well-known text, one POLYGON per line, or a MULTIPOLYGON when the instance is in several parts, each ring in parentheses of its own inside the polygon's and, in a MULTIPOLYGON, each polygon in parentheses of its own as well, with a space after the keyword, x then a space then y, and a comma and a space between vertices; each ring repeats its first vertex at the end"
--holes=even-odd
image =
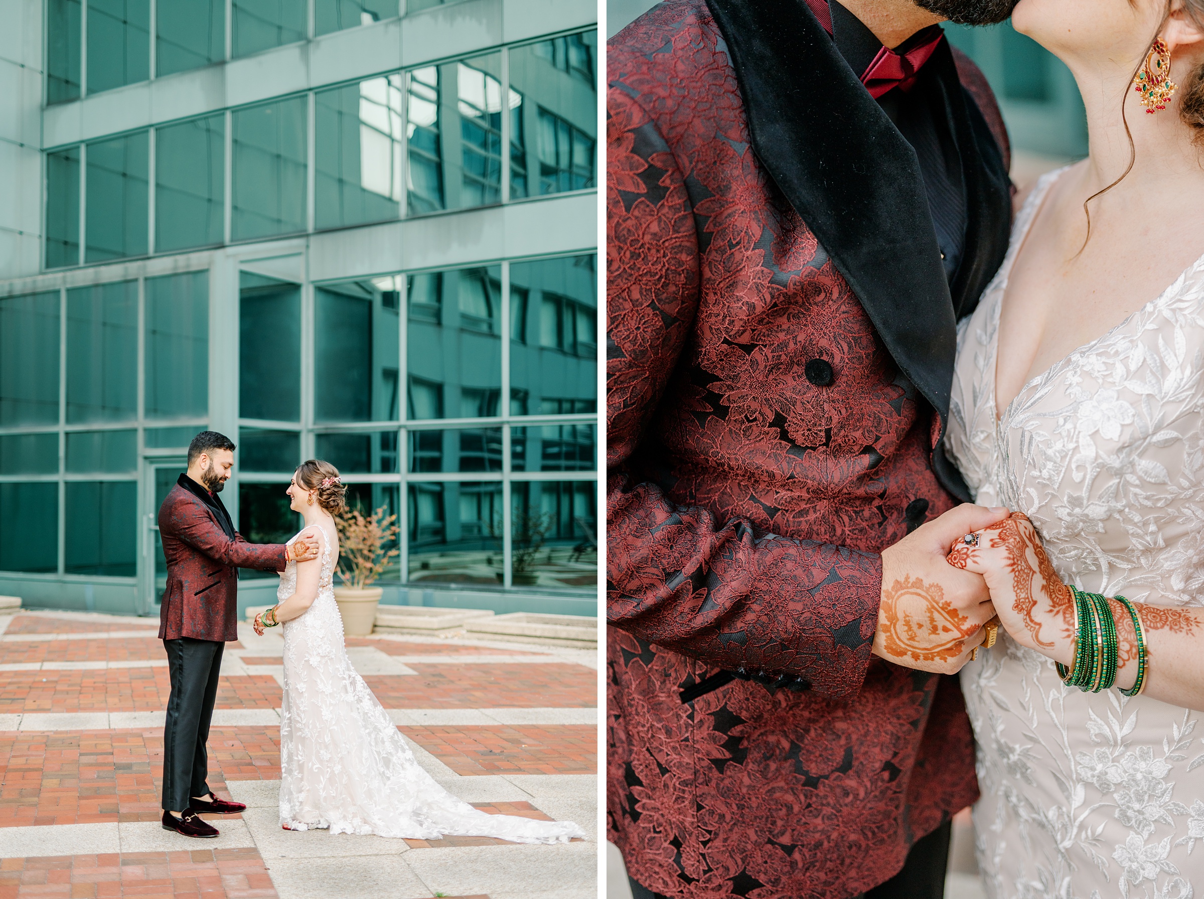
POLYGON ((883 598, 874 655, 925 672, 954 674, 995 617, 981 575, 945 561, 954 540, 1007 519, 1007 509, 966 503, 883 551, 883 598))

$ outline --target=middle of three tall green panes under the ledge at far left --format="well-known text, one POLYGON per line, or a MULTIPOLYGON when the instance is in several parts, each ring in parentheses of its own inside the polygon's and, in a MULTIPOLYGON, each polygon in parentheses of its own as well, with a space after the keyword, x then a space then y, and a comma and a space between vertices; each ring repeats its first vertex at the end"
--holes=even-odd
POLYGON ((138 284, 67 291, 67 421, 137 416, 138 284))

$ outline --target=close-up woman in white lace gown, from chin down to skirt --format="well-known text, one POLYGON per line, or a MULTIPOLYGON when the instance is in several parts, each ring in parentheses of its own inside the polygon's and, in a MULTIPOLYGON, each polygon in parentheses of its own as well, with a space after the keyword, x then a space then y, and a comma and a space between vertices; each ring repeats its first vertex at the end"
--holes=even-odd
POLYGON ((1032 520, 1064 584, 1145 604, 1150 672, 1132 698, 1066 687, 1016 626, 962 669, 978 859, 992 899, 1190 899, 1204 895, 1204 175, 1179 101, 1200 100, 1204 2, 1174 0, 1167 20, 1161 0, 1058 4, 1022 0, 1013 22, 1074 71, 1091 158, 1040 179, 962 323, 946 446, 978 503, 1032 520), (1155 34, 1186 89, 1137 116, 1129 78, 1155 34), (1084 200, 1128 162, 1126 95, 1137 165, 1092 201, 1084 247, 1084 200))

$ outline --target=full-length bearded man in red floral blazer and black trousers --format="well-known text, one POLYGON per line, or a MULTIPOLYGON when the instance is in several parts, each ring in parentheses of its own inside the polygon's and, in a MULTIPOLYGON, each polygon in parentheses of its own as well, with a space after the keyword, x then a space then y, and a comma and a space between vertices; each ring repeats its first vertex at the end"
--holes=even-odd
POLYGON ((217 798, 206 783, 205 743, 217 699, 225 641, 238 639, 238 568, 283 572, 290 558, 318 555, 317 538, 291 545, 247 543, 218 496, 234 469, 235 445, 202 431, 188 446, 188 471, 159 507, 167 589, 159 639, 167 651, 171 696, 163 737, 163 827, 212 838, 218 829, 197 812, 231 814, 247 806, 217 798))

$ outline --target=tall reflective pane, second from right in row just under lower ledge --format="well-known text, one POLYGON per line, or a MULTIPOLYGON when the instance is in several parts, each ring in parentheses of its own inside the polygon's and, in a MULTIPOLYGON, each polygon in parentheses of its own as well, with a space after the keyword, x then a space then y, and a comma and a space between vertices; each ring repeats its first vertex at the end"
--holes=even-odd
POLYGON ((501 267, 406 277, 412 420, 497 415, 501 267))

